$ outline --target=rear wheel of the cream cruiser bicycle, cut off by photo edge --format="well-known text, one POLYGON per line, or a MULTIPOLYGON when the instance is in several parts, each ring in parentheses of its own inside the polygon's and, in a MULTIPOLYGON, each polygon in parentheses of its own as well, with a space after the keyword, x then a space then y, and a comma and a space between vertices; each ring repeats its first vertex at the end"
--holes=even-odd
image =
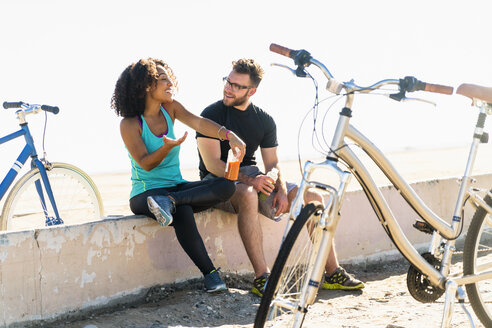
MULTIPOLYGON (((484 200, 492 206, 490 196, 487 195, 484 200)), ((473 215, 465 239, 463 273, 465 275, 480 273, 478 266, 485 263, 492 264, 492 215, 483 207, 479 207, 473 215)), ((490 267, 486 270, 490 270, 490 267)), ((482 324, 485 327, 492 327, 492 280, 468 284, 466 292, 473 311, 482 324)))

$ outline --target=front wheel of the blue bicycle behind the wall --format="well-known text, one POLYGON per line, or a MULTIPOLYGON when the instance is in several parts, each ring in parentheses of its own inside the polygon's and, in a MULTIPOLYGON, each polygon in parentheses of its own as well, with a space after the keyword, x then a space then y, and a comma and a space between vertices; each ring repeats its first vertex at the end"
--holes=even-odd
MULTIPOLYGON (((104 215, 101 195, 92 179, 71 164, 52 163, 46 170, 55 203, 65 225, 100 220, 104 215)), ((31 169, 12 187, 2 210, 2 230, 28 230, 45 227, 45 214, 35 188, 41 179, 38 168, 31 169)), ((48 215, 55 217, 44 185, 48 215)))

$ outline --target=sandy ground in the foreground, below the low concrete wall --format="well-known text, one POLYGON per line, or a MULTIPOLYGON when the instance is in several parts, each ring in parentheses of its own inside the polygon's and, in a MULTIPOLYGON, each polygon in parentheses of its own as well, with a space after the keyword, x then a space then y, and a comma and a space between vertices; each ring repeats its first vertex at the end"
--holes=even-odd
MULTIPOLYGON (((303 327, 440 327, 442 296, 423 304, 406 288, 408 265, 402 260, 368 268, 349 268, 365 281, 363 291, 320 291, 303 327)), ((155 287, 140 304, 119 307, 107 313, 88 314, 45 326, 53 328, 158 328, 158 327, 252 327, 259 298, 249 293, 249 277, 225 276, 229 291, 205 293, 200 281, 181 286, 155 287)), ((472 312, 468 302, 468 311, 472 312)), ((474 317, 474 314, 473 314, 474 317)), ((476 327, 483 327, 474 317, 476 327)), ((452 327, 471 327, 456 304, 452 327)))

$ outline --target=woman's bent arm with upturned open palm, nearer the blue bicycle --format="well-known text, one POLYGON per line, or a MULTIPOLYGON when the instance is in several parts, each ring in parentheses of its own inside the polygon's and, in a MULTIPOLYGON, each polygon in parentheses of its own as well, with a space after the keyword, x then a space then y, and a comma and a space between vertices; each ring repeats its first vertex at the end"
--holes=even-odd
POLYGON ((159 165, 171 149, 183 143, 187 133, 177 140, 164 137, 164 145, 152 153, 148 153, 141 137, 140 124, 136 117, 124 118, 120 123, 120 133, 132 158, 146 171, 159 165))

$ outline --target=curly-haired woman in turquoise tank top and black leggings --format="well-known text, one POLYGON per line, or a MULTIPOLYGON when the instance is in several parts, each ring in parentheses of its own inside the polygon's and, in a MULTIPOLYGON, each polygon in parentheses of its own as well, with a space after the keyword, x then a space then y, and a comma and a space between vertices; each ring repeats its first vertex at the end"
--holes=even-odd
POLYGON ((155 218, 160 225, 173 225, 184 251, 205 277, 208 292, 226 289, 207 254, 197 230, 194 212, 229 199, 233 181, 217 178, 210 182, 188 182, 181 176, 179 147, 187 133, 176 139, 174 121, 238 147, 244 156, 245 144, 233 132, 215 122, 196 116, 173 99, 176 78, 159 59, 142 59, 120 75, 111 107, 123 119, 120 132, 132 163, 130 208, 135 214, 155 218))

